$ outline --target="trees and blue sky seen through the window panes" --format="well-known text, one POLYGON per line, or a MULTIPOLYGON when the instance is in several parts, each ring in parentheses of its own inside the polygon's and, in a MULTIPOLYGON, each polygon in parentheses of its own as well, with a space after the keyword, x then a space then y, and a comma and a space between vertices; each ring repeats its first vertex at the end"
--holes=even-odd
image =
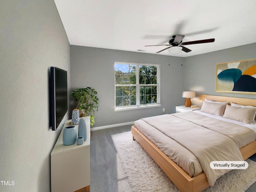
POLYGON ((115 62, 115 108, 158 104, 159 66, 115 62))

